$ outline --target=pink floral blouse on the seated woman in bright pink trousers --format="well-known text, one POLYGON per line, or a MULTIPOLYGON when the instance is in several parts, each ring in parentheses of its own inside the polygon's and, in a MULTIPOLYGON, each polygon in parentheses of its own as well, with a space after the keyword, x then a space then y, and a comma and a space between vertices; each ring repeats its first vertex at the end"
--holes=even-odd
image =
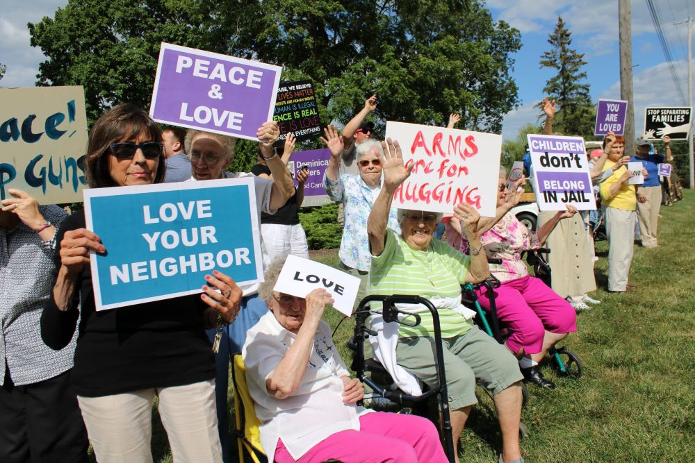
MULTIPOLYGON (((446 224, 446 235, 454 249, 468 254, 468 240, 450 224, 446 224)), ((521 252, 541 247, 536 232, 529 232, 511 212, 507 212, 493 228, 483 233, 480 242, 487 258, 502 260, 501 264, 490 264, 490 273, 502 283, 527 276, 528 269, 521 260, 521 252)))

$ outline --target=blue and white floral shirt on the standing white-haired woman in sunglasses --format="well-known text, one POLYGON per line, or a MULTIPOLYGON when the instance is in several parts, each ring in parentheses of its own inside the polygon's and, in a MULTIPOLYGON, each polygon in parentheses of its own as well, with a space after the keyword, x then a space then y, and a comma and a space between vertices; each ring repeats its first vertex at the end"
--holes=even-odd
MULTIPOLYGON (((338 256, 347 267, 369 271, 372 256, 369 252, 367 218, 381 186, 372 190, 359 175, 354 174, 341 174, 338 180, 331 180, 325 175, 323 186, 330 199, 345 205, 345 229, 338 256)), ((389 213, 388 226, 396 235, 400 235, 395 208, 391 208, 389 213)))

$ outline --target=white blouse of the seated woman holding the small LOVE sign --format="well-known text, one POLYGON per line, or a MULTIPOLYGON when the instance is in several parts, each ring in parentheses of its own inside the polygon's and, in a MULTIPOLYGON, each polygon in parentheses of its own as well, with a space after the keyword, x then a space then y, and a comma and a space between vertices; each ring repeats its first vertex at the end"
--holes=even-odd
POLYGON ((241 351, 249 392, 256 403, 256 416, 262 423, 261 444, 269 460, 275 455, 278 439, 299 460, 330 435, 359 430, 359 416, 371 411, 343 403, 345 387, 341 377, 350 376, 350 372, 333 344, 331 329, 325 321, 318 325, 309 364, 297 391, 284 399, 268 395, 265 380, 270 378, 296 337, 268 312, 247 332, 241 351))

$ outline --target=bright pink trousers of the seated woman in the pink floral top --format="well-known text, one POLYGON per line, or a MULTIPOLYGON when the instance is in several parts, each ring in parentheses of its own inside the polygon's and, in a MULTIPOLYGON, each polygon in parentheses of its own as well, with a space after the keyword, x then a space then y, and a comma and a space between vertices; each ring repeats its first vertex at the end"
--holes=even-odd
MULTIPOLYGON (((478 302, 490 310, 485 288, 475 290, 478 302)), ((523 348, 525 355, 543 350, 546 331, 564 334, 577 330, 577 313, 538 278, 523 276, 505 281, 495 289, 497 317, 509 329, 507 348, 512 353, 523 348)))

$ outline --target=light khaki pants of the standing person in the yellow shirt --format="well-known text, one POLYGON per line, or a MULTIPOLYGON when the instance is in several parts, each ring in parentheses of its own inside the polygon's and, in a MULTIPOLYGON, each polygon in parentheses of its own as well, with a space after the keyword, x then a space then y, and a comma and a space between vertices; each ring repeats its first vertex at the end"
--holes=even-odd
POLYGON ((605 208, 608 235, 608 290, 625 291, 635 249, 635 211, 605 208))

